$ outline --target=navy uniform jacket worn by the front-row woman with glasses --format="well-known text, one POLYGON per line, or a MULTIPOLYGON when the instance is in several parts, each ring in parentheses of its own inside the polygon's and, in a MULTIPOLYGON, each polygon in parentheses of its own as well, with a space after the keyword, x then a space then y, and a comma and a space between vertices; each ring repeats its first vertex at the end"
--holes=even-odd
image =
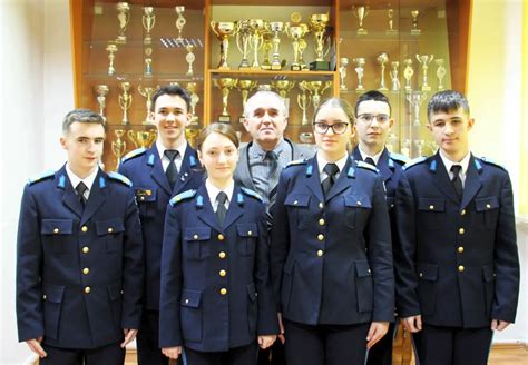
POLYGON ((394 282, 383 181, 349 158, 326 198, 316 158, 281 174, 271 241, 284 318, 350 325, 392 320, 394 282))

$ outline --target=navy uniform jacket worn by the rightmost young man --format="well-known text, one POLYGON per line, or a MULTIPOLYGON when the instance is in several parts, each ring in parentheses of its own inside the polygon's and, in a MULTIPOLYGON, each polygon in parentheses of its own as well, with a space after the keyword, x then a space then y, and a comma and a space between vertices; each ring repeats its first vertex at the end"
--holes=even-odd
POLYGON ((395 208, 402 317, 465 328, 515 320, 519 258, 503 168, 471 156, 460 203, 439 154, 421 158, 405 166, 395 208))

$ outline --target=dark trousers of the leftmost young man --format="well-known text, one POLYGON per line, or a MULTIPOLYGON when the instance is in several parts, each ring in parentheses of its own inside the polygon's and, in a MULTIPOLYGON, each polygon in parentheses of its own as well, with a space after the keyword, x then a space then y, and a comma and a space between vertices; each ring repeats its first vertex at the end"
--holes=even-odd
POLYGON ((41 358, 42 365, 123 365, 125 363, 125 348, 119 344, 108 346, 78 349, 61 348, 42 344, 48 356, 41 358))

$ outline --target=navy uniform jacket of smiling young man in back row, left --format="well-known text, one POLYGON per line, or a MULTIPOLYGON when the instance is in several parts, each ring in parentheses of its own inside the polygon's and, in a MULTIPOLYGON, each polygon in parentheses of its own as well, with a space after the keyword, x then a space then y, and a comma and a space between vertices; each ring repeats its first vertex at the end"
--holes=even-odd
POLYGON ((145 308, 159 310, 159 272, 165 210, 170 197, 195 189, 203 182, 203 171, 198 166, 196 151, 187 146, 177 182, 172 190, 163 170, 158 150, 154 145, 148 150, 139 148, 129 152, 124 158, 119 172, 133 181, 139 205, 145 243, 145 308))

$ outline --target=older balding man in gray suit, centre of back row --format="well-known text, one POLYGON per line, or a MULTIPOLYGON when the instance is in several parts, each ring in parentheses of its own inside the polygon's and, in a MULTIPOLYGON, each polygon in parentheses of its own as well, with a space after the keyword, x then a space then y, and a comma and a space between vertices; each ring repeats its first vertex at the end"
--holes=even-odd
MULTIPOLYGON (((292 160, 312 157, 314 150, 284 138, 287 109, 283 98, 275 92, 257 91, 247 99, 244 118, 244 127, 252 141, 241 148, 234 178, 236 182, 257 191, 267 211, 272 213, 282 168, 292 160)), ((270 351, 260 351, 258 365, 285 364, 284 337, 280 338, 270 351)))

